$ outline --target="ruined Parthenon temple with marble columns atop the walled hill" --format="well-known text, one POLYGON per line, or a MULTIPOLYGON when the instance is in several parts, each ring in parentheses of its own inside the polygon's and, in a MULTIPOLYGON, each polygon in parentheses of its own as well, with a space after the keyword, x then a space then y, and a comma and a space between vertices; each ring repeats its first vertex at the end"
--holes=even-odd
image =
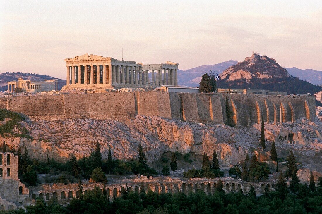
POLYGON ((178 85, 178 63, 143 64, 111 57, 84 54, 67 58, 65 88, 144 88, 178 85), (151 70, 151 79, 149 79, 151 70), (155 72, 157 70, 157 72, 155 72))

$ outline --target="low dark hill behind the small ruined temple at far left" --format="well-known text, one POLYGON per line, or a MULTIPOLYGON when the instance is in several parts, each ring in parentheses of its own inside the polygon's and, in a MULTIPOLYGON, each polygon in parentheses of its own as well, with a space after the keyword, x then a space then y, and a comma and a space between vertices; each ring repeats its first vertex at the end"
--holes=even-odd
POLYGON ((32 73, 22 73, 22 72, 6 72, 0 74, 0 91, 5 91, 8 89, 8 82, 17 80, 18 78, 23 78, 24 80, 34 80, 43 81, 45 79, 57 79, 58 80, 58 90, 60 90, 64 85, 66 85, 65 79, 58 79, 48 75, 42 74, 32 74, 32 73))

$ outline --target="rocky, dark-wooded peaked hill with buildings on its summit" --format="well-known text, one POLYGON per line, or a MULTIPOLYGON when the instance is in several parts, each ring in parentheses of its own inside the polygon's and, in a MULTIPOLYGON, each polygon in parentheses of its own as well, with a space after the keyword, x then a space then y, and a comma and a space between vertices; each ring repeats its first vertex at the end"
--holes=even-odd
POLYGON ((292 77, 274 59, 258 53, 224 70, 217 81, 217 87, 268 89, 287 91, 288 94, 313 94, 321 90, 320 86, 292 77))

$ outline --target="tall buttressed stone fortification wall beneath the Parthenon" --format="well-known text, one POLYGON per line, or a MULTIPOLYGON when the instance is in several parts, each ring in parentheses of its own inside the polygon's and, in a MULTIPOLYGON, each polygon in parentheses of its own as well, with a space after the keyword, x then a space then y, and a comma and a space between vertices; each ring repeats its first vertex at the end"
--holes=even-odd
POLYGON ((279 122, 280 107, 283 122, 295 122, 300 117, 312 120, 315 117, 315 99, 308 96, 157 91, 6 96, 0 98, 0 108, 47 120, 93 118, 124 122, 141 114, 187 122, 223 124, 227 120, 226 97, 234 112, 236 126, 259 123, 262 116, 265 122, 279 122))

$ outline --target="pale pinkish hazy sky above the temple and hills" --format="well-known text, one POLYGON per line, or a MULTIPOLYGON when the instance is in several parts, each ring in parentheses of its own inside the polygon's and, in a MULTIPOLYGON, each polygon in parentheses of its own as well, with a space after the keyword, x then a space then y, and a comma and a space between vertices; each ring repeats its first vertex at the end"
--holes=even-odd
POLYGON ((66 78, 65 58, 180 63, 242 61, 322 70, 322 1, 3 1, 0 72, 66 78))

